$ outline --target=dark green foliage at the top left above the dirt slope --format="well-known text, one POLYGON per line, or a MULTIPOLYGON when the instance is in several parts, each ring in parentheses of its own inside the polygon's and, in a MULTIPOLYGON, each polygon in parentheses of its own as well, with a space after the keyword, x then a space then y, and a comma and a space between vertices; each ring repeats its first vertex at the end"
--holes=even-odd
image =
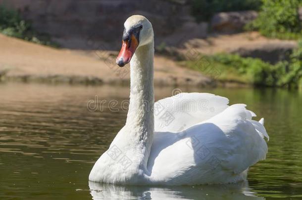
POLYGON ((31 24, 23 20, 16 10, 6 8, 3 5, 0 5, 0 33, 43 45, 58 47, 56 43, 50 41, 49 36, 33 31, 31 24))

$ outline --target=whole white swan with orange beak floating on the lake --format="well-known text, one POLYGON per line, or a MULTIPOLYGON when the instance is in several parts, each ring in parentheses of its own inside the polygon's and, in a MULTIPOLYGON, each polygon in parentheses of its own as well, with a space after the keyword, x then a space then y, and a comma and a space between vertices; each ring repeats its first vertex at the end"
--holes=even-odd
POLYGON ((151 23, 129 17, 117 64, 130 62, 131 92, 125 126, 90 172, 113 184, 195 185, 246 179, 264 160, 264 120, 244 104, 208 93, 180 93, 154 104, 151 23), (130 61, 131 60, 131 61, 130 61))

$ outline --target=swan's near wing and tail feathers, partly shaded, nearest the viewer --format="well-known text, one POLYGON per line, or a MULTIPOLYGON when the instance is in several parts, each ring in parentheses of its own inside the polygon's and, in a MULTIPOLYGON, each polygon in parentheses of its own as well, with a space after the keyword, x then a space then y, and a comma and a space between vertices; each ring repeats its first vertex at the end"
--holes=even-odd
POLYGON ((236 182, 264 160, 268 136, 254 113, 235 104, 181 133, 154 134, 148 169, 151 180, 167 184, 236 182))

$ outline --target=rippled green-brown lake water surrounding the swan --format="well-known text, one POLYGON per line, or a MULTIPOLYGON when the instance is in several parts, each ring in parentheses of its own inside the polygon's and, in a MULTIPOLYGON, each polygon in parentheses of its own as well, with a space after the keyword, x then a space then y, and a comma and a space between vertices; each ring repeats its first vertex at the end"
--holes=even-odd
MULTIPOLYGON (((155 88, 155 98, 171 96, 173 89, 155 88)), ((269 152, 266 160, 250 168, 248 181, 157 188, 89 183, 94 162, 125 123, 127 110, 120 103, 128 99, 129 88, 2 83, 0 199, 302 198, 302 91, 180 89, 246 103, 257 120, 265 118, 269 152), (109 109, 112 99, 118 104, 109 109)))

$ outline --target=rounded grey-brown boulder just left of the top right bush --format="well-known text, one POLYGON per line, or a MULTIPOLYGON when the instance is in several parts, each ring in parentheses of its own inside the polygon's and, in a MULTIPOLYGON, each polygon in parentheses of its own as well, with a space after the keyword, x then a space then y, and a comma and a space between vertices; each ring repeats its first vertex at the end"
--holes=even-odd
POLYGON ((215 14, 211 20, 211 28, 221 33, 237 33, 244 26, 254 20, 258 13, 253 10, 240 12, 220 12, 215 14))

